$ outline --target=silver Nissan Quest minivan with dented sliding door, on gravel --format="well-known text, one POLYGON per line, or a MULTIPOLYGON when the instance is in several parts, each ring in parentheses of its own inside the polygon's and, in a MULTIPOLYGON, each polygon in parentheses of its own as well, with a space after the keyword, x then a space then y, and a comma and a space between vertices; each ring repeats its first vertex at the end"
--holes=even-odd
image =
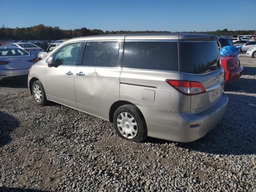
POLYGON ((124 139, 203 137, 226 114, 217 36, 124 34, 73 38, 34 64, 28 88, 114 123, 124 139))

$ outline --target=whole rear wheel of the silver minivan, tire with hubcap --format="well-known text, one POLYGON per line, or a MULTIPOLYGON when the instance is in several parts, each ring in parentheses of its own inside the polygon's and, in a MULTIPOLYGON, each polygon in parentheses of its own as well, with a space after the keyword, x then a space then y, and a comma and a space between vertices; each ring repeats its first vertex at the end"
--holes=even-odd
POLYGON ((148 138, 144 117, 134 105, 120 106, 114 113, 113 122, 116 134, 126 140, 144 142, 148 138))

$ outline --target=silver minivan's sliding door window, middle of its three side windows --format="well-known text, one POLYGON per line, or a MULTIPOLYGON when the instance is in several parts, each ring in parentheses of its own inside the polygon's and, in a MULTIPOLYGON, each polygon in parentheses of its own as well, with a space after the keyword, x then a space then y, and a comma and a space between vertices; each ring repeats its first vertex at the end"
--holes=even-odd
POLYGON ((118 52, 122 50, 119 42, 88 42, 86 43, 82 66, 118 67, 118 52))

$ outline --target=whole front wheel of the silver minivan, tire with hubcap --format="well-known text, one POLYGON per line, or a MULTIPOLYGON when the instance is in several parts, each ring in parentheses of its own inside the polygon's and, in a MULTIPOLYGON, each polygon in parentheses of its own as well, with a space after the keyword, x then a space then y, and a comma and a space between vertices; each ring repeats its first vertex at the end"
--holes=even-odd
POLYGON ((42 83, 38 80, 32 85, 32 94, 37 104, 44 106, 48 103, 42 83))

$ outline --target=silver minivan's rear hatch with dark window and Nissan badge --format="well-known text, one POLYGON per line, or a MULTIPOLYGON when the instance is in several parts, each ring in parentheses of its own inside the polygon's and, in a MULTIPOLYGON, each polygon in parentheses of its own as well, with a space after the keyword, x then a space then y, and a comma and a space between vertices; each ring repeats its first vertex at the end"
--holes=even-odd
POLYGON ((191 96, 193 114, 204 112, 221 100, 224 76, 216 40, 180 40, 180 79, 200 82, 206 90, 191 96))

